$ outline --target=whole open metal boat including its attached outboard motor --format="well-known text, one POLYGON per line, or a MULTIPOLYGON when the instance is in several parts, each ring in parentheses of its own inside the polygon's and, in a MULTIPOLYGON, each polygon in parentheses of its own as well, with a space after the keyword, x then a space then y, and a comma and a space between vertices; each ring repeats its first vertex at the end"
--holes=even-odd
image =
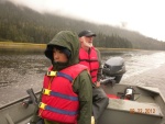
MULTIPOLYGON (((165 99, 157 88, 119 83, 125 72, 124 60, 113 57, 102 69, 101 87, 109 97, 109 105, 99 124, 165 124, 165 99)), ((29 123, 37 104, 33 90, 0 108, 0 124, 29 123), (33 104, 32 104, 33 103, 33 104)))

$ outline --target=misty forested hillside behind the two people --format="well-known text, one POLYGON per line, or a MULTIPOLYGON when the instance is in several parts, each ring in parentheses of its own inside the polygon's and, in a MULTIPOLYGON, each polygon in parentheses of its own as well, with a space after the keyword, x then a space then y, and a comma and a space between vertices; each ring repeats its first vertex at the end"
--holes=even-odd
POLYGON ((110 25, 94 24, 50 13, 38 13, 25 7, 0 1, 0 41, 46 44, 62 30, 91 30, 94 44, 107 48, 165 50, 165 42, 110 25))

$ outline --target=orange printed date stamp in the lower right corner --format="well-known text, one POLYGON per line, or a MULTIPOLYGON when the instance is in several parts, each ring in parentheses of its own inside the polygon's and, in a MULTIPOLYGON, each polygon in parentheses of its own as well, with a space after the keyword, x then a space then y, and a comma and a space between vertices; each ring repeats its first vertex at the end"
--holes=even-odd
POLYGON ((154 114, 156 113, 155 109, 130 109, 130 113, 144 113, 144 114, 154 114))

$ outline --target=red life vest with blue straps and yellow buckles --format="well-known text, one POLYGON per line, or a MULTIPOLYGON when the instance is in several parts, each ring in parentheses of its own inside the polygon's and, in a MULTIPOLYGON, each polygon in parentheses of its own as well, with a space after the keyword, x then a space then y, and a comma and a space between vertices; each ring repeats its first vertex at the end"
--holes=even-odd
POLYGON ((62 71, 51 71, 53 67, 44 77, 38 115, 50 121, 77 124, 79 101, 72 86, 87 67, 77 64, 62 71))

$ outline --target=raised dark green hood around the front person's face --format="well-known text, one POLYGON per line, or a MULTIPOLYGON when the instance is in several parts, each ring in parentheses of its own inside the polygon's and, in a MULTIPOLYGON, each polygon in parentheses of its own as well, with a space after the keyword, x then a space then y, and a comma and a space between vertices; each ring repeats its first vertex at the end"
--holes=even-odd
POLYGON ((75 65, 79 63, 78 59, 79 54, 79 41, 78 35, 72 31, 61 31, 57 33, 53 40, 47 44, 45 56, 52 60, 54 66, 54 70, 61 70, 68 66, 75 65), (55 46, 62 46, 70 52, 70 56, 66 64, 54 63, 53 60, 53 48, 55 46))

